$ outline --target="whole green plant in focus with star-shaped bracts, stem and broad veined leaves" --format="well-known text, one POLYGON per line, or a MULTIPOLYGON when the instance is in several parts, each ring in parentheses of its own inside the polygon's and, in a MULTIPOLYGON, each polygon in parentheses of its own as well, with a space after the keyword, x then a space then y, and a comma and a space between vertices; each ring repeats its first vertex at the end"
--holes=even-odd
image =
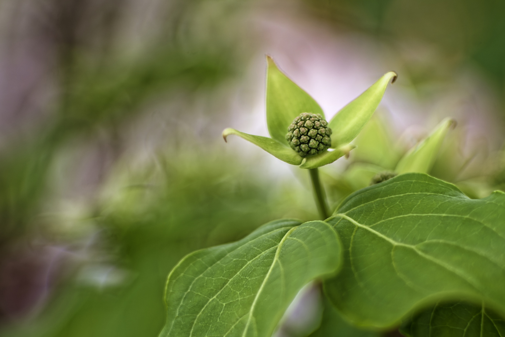
POLYGON ((331 151, 300 156, 286 140, 290 124, 303 113, 324 120, 324 113, 268 58, 272 138, 231 128, 223 137, 236 134, 309 169, 324 221, 276 220, 238 242, 187 255, 168 276, 161 337, 269 337, 313 280, 322 285, 325 308, 313 336, 378 335, 401 322, 401 331, 412 336, 503 335, 505 195, 473 200, 426 174, 452 120, 328 212, 318 168, 354 148, 350 142, 395 78, 386 73, 328 122, 331 151))

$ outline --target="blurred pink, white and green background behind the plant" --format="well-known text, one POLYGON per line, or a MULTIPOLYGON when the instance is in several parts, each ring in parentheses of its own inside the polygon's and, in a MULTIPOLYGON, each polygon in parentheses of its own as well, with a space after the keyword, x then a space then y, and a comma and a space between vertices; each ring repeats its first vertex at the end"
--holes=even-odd
MULTIPOLYGON (((444 117, 458 126, 430 173, 471 198, 505 188, 504 12, 491 0, 2 0, 0 335, 157 336, 185 254, 317 218, 306 171, 221 137, 268 135, 265 54, 328 119, 399 75, 350 158, 322 169, 333 206, 444 117)), ((279 335, 302 335, 299 323, 279 335)))

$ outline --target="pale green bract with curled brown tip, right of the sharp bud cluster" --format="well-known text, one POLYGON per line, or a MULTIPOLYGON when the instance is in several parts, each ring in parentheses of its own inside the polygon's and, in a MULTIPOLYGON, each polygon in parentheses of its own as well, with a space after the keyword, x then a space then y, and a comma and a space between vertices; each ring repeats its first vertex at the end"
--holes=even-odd
POLYGON ((331 135, 332 148, 338 148, 356 138, 379 106, 387 84, 391 79, 391 82, 394 82, 396 76, 394 71, 384 74, 331 119, 329 126, 333 131, 331 135))

